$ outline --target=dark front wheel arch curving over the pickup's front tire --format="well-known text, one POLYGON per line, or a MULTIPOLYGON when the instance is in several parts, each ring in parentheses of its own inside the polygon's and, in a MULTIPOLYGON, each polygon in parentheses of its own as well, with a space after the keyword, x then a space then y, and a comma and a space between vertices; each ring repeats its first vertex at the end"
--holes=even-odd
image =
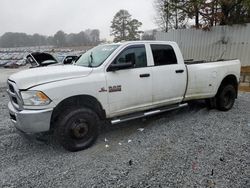
POLYGON ((50 129, 55 128, 55 122, 64 109, 77 107, 87 107, 97 113, 98 117, 103 120, 106 118, 106 112, 101 103, 91 95, 75 95, 62 100, 53 110, 51 116, 50 129))

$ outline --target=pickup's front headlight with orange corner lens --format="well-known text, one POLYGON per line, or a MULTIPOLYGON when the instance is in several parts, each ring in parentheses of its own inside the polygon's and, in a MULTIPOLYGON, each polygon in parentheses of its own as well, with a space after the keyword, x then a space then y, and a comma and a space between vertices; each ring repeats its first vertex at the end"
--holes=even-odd
POLYGON ((21 95, 25 106, 43 106, 51 102, 41 91, 21 91, 21 95))

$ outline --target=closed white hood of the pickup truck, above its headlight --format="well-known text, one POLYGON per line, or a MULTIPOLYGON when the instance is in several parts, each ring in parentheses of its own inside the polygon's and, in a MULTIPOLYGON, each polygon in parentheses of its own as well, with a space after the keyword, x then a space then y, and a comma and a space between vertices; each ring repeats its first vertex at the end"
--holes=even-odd
POLYGON ((9 80, 14 81, 19 89, 28 89, 49 82, 88 76, 92 70, 76 65, 49 66, 20 71, 11 75, 9 80))

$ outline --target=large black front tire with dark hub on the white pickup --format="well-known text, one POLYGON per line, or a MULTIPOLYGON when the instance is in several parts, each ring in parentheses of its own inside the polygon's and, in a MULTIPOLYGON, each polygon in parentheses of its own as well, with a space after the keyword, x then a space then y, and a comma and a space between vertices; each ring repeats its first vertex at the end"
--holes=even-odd
POLYGON ((55 136, 68 151, 80 151, 93 145, 99 134, 99 117, 88 108, 73 108, 61 114, 55 136))

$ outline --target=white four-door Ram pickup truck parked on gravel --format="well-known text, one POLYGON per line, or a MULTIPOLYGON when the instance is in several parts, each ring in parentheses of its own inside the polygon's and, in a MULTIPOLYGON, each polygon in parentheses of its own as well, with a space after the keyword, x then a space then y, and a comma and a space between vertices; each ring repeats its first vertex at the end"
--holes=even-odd
POLYGON ((120 123, 206 99, 219 110, 237 98, 240 61, 184 62, 175 42, 97 46, 74 65, 49 66, 8 79, 8 108, 25 133, 54 130, 70 151, 91 146, 100 122, 120 123))

